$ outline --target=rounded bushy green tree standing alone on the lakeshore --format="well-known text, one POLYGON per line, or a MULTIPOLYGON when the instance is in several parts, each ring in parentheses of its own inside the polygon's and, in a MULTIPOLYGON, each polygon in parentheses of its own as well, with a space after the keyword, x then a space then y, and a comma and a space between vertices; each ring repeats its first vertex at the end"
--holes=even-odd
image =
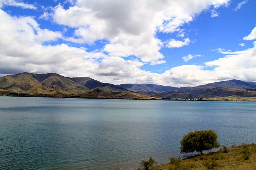
POLYGON ((199 130, 189 132, 181 140, 181 153, 200 152, 220 147, 217 141, 218 135, 213 130, 199 130))

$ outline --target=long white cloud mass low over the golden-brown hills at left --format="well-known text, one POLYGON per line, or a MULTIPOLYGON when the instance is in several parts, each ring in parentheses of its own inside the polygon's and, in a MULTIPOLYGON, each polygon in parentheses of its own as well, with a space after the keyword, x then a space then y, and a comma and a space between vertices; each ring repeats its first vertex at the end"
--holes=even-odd
POLYGON ((44 45, 61 38, 60 32, 40 29, 30 17, 10 17, 0 10, 0 73, 56 72, 63 76, 92 77, 102 82, 122 82, 142 71, 144 63, 109 57, 101 52, 86 52, 86 48, 67 44, 44 45), (12 36, 10 36, 12 35, 12 36), (111 75, 115 76, 111 77, 111 75))

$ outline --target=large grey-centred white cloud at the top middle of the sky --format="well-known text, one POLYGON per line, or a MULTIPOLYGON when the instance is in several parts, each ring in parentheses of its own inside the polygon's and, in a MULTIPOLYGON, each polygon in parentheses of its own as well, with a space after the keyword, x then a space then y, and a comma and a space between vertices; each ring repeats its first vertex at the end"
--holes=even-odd
MULTIPOLYGON (((143 62, 154 63, 164 58, 159 52, 163 42, 155 37, 157 32, 177 31, 177 36, 184 37, 180 26, 192 21, 196 14, 212 8, 216 11, 229 1, 77 0, 69 9, 60 4, 56 6, 53 19, 58 24, 76 29, 75 37, 68 37, 67 41, 93 44, 106 39, 109 43, 104 50, 109 56, 135 55, 143 62)), ((189 38, 184 42, 171 40, 166 46, 182 47, 189 42, 189 38)))

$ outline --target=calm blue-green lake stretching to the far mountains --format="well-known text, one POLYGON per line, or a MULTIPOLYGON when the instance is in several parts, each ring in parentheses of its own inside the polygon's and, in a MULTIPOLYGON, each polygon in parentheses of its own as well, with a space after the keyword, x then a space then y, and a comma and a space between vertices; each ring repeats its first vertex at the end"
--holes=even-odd
POLYGON ((256 102, 0 97, 0 169, 129 170, 182 157, 180 141, 214 130, 256 142, 256 102))

